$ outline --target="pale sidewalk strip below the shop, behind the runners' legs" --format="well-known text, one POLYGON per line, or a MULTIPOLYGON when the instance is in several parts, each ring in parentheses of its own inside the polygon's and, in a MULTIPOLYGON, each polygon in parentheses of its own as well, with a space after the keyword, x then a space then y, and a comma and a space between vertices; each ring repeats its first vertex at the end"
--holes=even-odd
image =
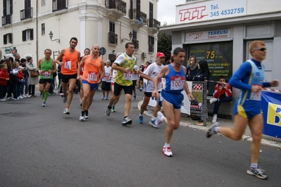
MULTIPOLYGON (((142 105, 142 101, 139 101, 139 103, 137 103, 137 108, 140 109, 141 105, 142 105)), ((147 110, 144 111, 144 114, 152 117, 153 112, 154 112, 154 107, 147 106, 147 110)), ((194 121, 191 119, 191 117, 187 117, 186 114, 182 114, 180 125, 184 126, 184 127, 193 128, 193 129, 200 129, 203 131, 208 131, 208 129, 209 129, 208 126, 211 125, 211 120, 212 120, 212 117, 208 116, 207 126, 206 127, 199 126, 196 124, 198 121, 194 121)), ((222 119, 219 117, 218 117, 217 122, 220 123, 221 127, 232 127, 232 124, 233 124, 232 120, 226 120, 226 119, 222 119)), ((163 128, 163 127, 164 126, 162 126, 161 128, 163 128)), ((221 135, 221 136, 223 136, 223 135, 221 135)), ((244 136, 242 136, 242 140, 243 141, 252 141, 251 131, 250 131, 249 127, 246 128, 246 130, 244 132, 244 136)), ((263 135, 263 139, 261 140, 261 143, 263 146, 269 146, 272 148, 276 148, 277 150, 281 150, 281 138, 274 138, 271 136, 263 135)))

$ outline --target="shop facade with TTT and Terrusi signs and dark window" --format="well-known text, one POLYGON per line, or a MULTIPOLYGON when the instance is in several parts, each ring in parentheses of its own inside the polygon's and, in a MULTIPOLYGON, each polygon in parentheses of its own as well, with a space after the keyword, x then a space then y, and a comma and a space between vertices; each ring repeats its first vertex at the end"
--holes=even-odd
MULTIPOLYGON (((251 58, 249 44, 254 40, 266 43, 263 60, 267 81, 281 81, 281 1, 271 0, 199 0, 176 6, 175 25, 161 27, 172 34, 172 48, 183 47, 189 56, 206 60, 210 79, 218 81, 223 75, 230 79, 232 72, 251 58)), ((185 64, 186 65, 186 64, 185 64)), ((208 95, 215 83, 209 82, 208 95)), ((281 89, 281 85, 276 89, 281 89)), ((238 91, 234 89, 234 98, 238 91)), ((231 111, 227 105, 225 111, 231 111)), ((209 106, 208 108, 213 108, 209 106)))

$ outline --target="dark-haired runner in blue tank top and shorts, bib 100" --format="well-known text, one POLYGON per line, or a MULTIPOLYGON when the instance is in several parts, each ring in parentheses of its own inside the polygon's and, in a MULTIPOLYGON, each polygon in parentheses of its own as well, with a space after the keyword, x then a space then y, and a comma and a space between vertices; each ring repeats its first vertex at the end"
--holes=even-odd
POLYGON ((158 96, 158 82, 162 77, 166 78, 166 86, 161 91, 162 107, 166 117, 161 112, 157 112, 157 120, 167 123, 165 130, 165 145, 162 153, 168 157, 172 157, 170 150, 170 138, 172 138, 173 130, 178 129, 180 125, 180 108, 183 100, 182 90, 185 90, 189 99, 193 99, 190 93, 185 75, 187 68, 182 65, 185 60, 185 50, 178 47, 173 52, 174 62, 164 66, 161 72, 154 78, 154 91, 152 96, 158 96))

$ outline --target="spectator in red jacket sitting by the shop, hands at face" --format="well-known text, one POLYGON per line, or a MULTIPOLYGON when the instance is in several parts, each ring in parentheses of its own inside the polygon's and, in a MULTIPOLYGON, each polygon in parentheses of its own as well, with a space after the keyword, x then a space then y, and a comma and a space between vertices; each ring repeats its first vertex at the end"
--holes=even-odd
POLYGON ((225 82, 225 77, 220 76, 219 82, 215 86, 213 97, 210 99, 210 103, 215 103, 213 106, 213 120, 212 123, 217 122, 218 109, 220 108, 221 102, 232 101, 232 91, 230 85, 225 82))

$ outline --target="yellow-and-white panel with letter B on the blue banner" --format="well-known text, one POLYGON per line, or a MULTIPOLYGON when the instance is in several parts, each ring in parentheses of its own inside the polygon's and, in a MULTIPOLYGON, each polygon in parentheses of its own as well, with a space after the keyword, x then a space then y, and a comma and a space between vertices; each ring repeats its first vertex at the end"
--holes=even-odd
POLYGON ((281 105, 268 103, 268 124, 281 127, 281 105))

